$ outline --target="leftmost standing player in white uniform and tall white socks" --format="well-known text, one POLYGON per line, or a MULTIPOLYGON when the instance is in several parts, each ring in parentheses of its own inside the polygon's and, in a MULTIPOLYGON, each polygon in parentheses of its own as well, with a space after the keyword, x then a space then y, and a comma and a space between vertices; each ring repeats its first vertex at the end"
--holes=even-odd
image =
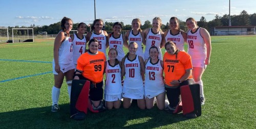
POLYGON ((63 17, 61 20, 62 31, 58 33, 54 40, 53 47, 53 74, 54 86, 52 88, 52 112, 59 111, 58 100, 60 88, 64 77, 68 84, 68 93, 71 94, 71 84, 75 66, 73 62, 73 47, 72 39, 69 37, 69 32, 72 29, 73 22, 68 17, 63 17))

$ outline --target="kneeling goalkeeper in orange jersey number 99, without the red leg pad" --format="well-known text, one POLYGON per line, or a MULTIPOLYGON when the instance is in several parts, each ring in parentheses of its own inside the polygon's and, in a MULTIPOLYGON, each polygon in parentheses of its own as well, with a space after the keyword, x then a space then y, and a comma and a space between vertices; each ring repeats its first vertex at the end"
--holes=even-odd
POLYGON ((103 99, 103 72, 105 66, 105 55, 98 51, 98 40, 91 39, 88 43, 88 52, 82 54, 77 60, 77 67, 74 79, 89 80, 94 87, 90 88, 89 96, 92 110, 101 111, 104 109, 103 99))

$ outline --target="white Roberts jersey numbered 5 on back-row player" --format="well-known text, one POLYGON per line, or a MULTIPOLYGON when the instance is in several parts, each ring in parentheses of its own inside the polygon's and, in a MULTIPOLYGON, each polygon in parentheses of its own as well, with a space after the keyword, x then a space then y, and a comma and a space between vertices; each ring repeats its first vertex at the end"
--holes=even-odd
POLYGON ((106 36, 105 36, 103 30, 101 30, 100 34, 95 34, 94 32, 92 32, 90 40, 92 38, 95 38, 95 39, 97 39, 99 41, 99 49, 98 49, 98 51, 103 52, 105 54, 105 56, 106 56, 106 36))

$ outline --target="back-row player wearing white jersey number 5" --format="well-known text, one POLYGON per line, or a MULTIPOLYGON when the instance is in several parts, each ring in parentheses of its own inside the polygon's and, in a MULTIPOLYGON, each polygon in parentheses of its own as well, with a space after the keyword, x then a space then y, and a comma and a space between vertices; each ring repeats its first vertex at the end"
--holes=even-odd
POLYGON ((108 33, 106 31, 102 30, 103 27, 103 20, 102 19, 95 19, 93 21, 93 25, 91 26, 92 32, 88 32, 86 35, 87 41, 89 41, 92 38, 96 38, 99 41, 99 49, 98 51, 101 51, 105 53, 106 56, 106 37, 108 36, 108 33))

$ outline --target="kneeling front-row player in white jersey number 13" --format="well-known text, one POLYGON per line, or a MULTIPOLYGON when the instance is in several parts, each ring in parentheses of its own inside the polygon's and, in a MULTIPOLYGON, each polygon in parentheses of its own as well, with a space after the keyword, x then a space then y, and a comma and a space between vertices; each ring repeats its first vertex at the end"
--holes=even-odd
POLYGON ((158 59, 156 46, 150 48, 150 58, 145 60, 145 102, 146 108, 154 106, 156 97, 158 109, 165 107, 165 88, 163 80, 163 61, 158 59))

